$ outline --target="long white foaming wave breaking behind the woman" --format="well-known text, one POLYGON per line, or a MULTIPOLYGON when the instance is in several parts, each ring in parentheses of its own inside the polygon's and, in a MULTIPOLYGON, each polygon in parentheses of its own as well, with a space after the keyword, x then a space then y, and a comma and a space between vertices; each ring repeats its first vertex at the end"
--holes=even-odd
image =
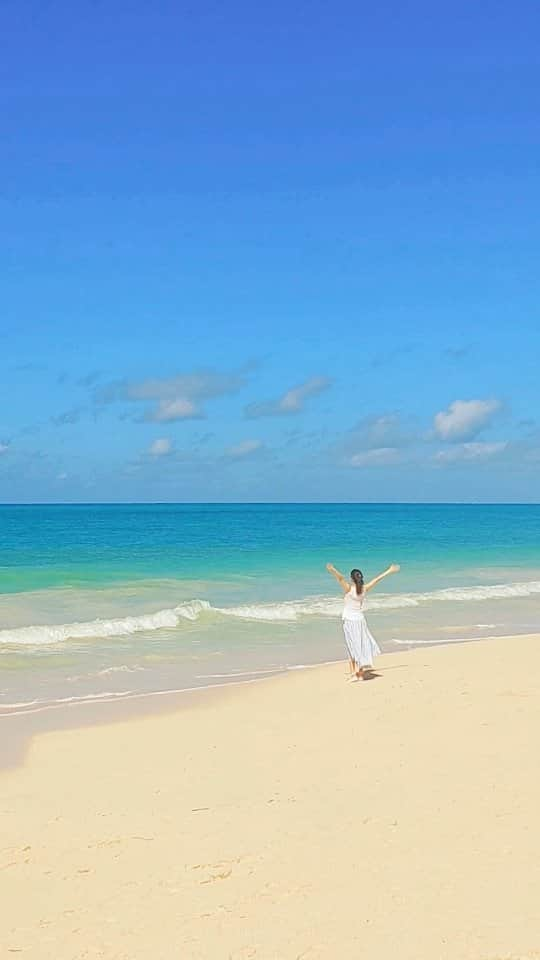
MULTIPOLYGON (((501 583, 491 586, 451 587, 428 593, 379 594, 369 599, 370 610, 392 610, 400 607, 418 607, 441 601, 471 602, 530 597, 540 594, 540 581, 501 583)), ((338 617, 342 601, 336 597, 307 597, 303 600, 285 600, 273 603, 251 603, 235 607, 213 607, 207 600, 191 600, 176 607, 141 616, 110 620, 91 620, 85 623, 63 623, 16 627, 0 630, 0 644, 40 646, 62 643, 66 640, 89 640, 129 636, 134 633, 175 629, 183 621, 201 617, 236 618, 266 623, 291 623, 304 617, 338 617)))

